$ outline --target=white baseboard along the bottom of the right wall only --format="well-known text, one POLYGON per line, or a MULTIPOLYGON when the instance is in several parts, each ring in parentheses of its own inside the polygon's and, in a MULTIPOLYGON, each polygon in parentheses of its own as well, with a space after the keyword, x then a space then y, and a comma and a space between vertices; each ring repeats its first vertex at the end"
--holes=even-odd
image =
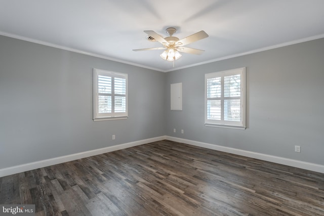
POLYGON ((324 173, 324 165, 166 136, 167 140, 324 173))

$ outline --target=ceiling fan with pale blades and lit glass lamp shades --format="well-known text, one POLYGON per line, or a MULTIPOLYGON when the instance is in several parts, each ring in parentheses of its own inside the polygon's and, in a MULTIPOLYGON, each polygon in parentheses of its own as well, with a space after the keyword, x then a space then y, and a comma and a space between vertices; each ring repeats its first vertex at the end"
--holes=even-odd
POLYGON ((176 33, 177 29, 175 28, 167 28, 166 32, 169 34, 168 37, 161 37, 159 34, 157 34, 154 31, 144 31, 147 34, 147 39, 150 41, 158 41, 160 42, 163 47, 157 47, 157 48, 146 48, 146 49, 137 49, 133 51, 145 51, 145 50, 166 50, 164 51, 160 57, 167 61, 174 61, 179 59, 182 55, 179 52, 182 53, 190 53, 195 55, 200 55, 204 52, 204 50, 198 50, 188 47, 183 47, 185 45, 191 44, 192 42, 195 42, 197 40, 204 39, 208 37, 208 34, 205 31, 199 31, 197 33, 194 33, 190 36, 187 36, 181 40, 179 40, 178 37, 172 36, 174 33, 176 33))

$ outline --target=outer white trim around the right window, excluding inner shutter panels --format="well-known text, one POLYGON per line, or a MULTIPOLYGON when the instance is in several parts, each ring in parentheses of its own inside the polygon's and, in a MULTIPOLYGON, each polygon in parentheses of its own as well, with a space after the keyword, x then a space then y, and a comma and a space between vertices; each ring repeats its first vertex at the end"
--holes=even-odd
MULTIPOLYGON (((221 100, 224 100, 222 98, 221 100)), ((223 127, 223 128, 233 128, 233 129, 246 129, 246 68, 236 68, 231 70, 206 73, 205 74, 205 126, 212 127, 223 127), (214 77, 224 77, 228 75, 241 75, 241 94, 240 94, 240 112, 241 112, 241 120, 240 121, 224 121, 224 120, 211 120, 207 119, 207 79, 214 77)))

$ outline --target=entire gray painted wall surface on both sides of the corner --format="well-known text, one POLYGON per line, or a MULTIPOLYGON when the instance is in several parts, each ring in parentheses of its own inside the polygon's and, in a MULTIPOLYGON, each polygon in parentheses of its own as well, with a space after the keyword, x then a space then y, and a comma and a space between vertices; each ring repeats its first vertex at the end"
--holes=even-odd
POLYGON ((0 48, 0 168, 163 135, 324 164, 324 38, 169 73, 5 36, 0 48), (205 73, 238 67, 247 129, 205 126, 205 73), (127 120, 92 120, 93 68, 129 74, 127 120), (183 111, 170 111, 176 82, 183 111))

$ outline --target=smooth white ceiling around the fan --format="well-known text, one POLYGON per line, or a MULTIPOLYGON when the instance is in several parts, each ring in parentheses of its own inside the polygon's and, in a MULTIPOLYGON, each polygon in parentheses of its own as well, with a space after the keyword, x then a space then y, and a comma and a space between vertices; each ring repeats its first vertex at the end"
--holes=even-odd
MULTIPOLYGON (((0 0, 0 34, 158 71, 172 71, 324 37, 324 0, 0 0), (144 30, 180 39, 200 30, 209 37, 186 46, 206 50, 168 62, 144 30)), ((1 49, 1 48, 0 48, 1 49)))

